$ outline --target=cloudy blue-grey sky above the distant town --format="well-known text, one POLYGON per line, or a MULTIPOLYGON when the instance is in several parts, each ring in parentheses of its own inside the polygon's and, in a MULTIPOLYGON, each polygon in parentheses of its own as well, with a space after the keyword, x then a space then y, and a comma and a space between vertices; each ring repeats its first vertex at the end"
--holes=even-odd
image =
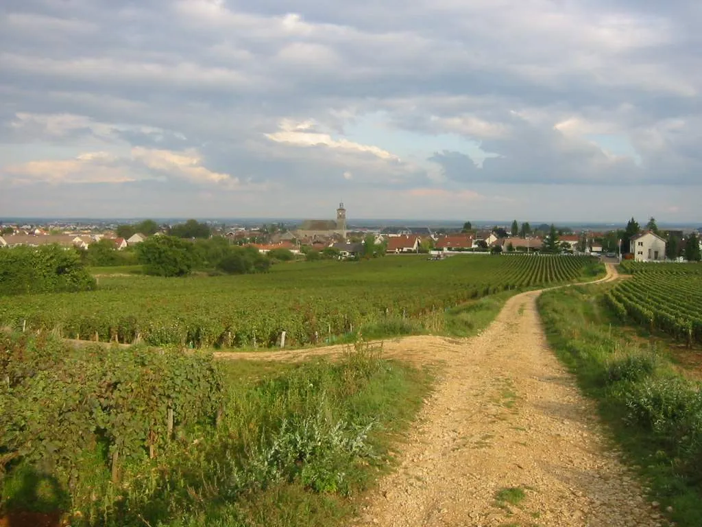
POLYGON ((702 222, 698 0, 2 0, 0 217, 702 222))

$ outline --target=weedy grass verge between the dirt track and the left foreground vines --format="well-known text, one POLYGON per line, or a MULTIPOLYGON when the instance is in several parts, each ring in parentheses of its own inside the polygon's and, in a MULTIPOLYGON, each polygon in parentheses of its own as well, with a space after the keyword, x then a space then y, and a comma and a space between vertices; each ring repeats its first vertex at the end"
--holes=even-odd
POLYGON ((20 457, 0 477, 0 518, 61 509, 74 526, 331 526, 392 467, 390 445, 431 382, 366 344, 336 363, 220 367, 227 393, 217 427, 177 430, 155 459, 145 451, 126 463, 119 481, 99 449, 72 474, 20 457))

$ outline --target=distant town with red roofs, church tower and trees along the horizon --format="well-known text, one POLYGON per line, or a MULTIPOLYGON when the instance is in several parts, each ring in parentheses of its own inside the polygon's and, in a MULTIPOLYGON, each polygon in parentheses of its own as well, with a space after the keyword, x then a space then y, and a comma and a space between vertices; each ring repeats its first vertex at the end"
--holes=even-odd
MULTIPOLYGON (((302 255, 310 251, 333 254, 342 259, 362 254, 369 235, 386 254, 428 253, 449 256, 463 252, 514 252, 538 254, 593 254, 640 261, 684 260, 692 242, 702 249, 702 227, 658 228, 650 218, 640 225, 633 218, 625 228, 558 226, 528 221, 493 224, 465 221, 463 224, 436 222, 418 225, 408 221, 347 223, 340 203, 336 219, 303 221, 117 221, 117 220, 0 220, 0 247, 38 247, 58 244, 88 249, 101 242, 116 251, 134 247, 150 236, 178 238, 222 237, 232 245, 253 246, 260 253, 288 250, 302 255), (553 242, 550 240, 553 239, 553 242), (636 243, 633 247, 631 244, 636 243), (645 244, 645 246, 644 246, 645 244), (644 251, 644 248, 646 249, 644 251)), ((696 253, 694 253, 696 254, 696 253)))

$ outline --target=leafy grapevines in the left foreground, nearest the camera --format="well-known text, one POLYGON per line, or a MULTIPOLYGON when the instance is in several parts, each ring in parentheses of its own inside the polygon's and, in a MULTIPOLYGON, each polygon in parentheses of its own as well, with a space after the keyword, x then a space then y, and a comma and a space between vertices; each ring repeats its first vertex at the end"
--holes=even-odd
POLYGON ((204 353, 73 349, 0 334, 0 356, 1 459, 43 467, 73 487, 88 453, 98 453, 114 478, 122 464, 166 450, 169 412, 178 432, 213 424, 223 403, 222 376, 204 353))

